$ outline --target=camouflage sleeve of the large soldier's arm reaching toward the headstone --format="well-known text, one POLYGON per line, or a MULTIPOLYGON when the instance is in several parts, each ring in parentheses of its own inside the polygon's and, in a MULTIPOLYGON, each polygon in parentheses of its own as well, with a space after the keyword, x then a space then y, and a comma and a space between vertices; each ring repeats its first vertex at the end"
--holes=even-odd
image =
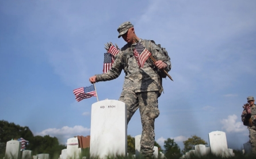
POLYGON ((123 68, 123 52, 119 51, 119 53, 115 57, 111 69, 107 73, 96 74, 96 80, 97 82, 114 80, 119 77, 123 68))

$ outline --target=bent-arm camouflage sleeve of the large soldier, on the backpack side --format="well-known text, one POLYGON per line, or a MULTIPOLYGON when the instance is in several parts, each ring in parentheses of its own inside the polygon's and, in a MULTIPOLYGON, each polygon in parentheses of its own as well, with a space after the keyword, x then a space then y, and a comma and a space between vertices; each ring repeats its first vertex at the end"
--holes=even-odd
POLYGON ((163 54, 161 48, 155 45, 155 43, 150 42, 149 49, 151 50, 152 56, 156 59, 156 61, 163 61, 167 64, 165 70, 169 72, 171 70, 171 61, 170 57, 163 54))

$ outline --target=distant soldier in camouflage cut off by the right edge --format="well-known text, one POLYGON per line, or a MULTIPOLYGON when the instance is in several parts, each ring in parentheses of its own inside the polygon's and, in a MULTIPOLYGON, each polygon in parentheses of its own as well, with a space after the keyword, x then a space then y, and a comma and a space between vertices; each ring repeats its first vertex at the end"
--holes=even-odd
POLYGON ((251 151, 256 155, 256 106, 254 97, 247 97, 247 104, 243 106, 242 121, 249 129, 251 151))

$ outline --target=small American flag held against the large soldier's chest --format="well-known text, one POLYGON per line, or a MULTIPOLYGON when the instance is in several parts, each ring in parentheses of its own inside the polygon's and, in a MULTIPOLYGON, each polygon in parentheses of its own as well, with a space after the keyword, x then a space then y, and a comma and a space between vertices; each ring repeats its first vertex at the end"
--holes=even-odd
POLYGON ((133 53, 135 55, 135 58, 137 59, 139 67, 143 67, 148 57, 152 55, 150 51, 148 51, 140 42, 138 42, 135 46, 133 53))

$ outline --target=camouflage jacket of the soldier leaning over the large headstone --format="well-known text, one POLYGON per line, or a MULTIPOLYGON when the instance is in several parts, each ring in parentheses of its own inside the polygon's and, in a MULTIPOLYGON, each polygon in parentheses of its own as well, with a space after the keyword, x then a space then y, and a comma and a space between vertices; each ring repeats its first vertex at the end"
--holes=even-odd
MULTIPOLYGON (((139 42, 150 51, 156 61, 162 60, 165 62, 167 64, 165 70, 167 72, 170 71, 170 58, 163 55, 161 48, 148 40, 139 39, 139 42)), ((133 43, 131 45, 127 43, 124 45, 116 55, 112 68, 105 74, 96 75, 97 82, 113 80, 119 77, 122 70, 125 70, 123 89, 129 88, 134 92, 158 91, 159 77, 157 68, 155 68, 152 59, 150 58, 144 63, 143 68, 139 67, 137 60, 133 55, 133 50, 136 44, 137 43, 133 43)))

